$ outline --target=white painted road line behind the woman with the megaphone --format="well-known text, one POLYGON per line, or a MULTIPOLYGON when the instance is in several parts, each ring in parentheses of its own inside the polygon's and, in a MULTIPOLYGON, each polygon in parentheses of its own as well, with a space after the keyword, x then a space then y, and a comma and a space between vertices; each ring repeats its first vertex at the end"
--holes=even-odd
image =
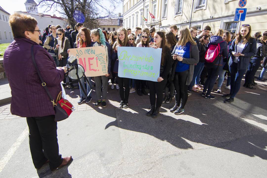
POLYGON ((23 130, 21 135, 18 137, 18 139, 15 141, 15 143, 9 148, 9 150, 6 152, 6 154, 3 156, 3 158, 0 161, 0 173, 10 160, 10 158, 14 155, 15 151, 18 149, 19 145, 22 143, 22 141, 25 139, 25 137, 28 135, 29 129, 28 127, 23 130))

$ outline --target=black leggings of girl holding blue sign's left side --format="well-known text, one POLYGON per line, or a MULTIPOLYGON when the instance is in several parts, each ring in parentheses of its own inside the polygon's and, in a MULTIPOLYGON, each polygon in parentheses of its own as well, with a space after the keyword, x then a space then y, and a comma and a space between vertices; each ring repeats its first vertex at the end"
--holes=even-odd
POLYGON ((117 82, 120 87, 120 99, 121 101, 127 101, 130 94, 130 87, 129 87, 129 78, 119 77, 118 73, 116 73, 117 82), (125 90, 123 89, 125 88, 125 90))

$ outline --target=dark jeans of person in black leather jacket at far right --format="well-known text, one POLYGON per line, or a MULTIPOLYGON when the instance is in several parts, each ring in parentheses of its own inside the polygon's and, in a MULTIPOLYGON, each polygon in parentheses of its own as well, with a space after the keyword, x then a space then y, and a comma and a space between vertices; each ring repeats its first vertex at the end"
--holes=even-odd
POLYGON ((245 76, 245 83, 252 84, 254 75, 256 74, 257 70, 261 65, 262 58, 253 57, 248 66, 248 70, 245 76))

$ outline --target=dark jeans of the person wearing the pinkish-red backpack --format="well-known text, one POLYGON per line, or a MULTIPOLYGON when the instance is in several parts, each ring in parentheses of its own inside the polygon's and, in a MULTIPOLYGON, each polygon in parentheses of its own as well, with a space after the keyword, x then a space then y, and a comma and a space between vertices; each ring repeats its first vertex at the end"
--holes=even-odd
POLYGON ((209 67, 207 68, 208 71, 208 78, 205 82, 204 88, 203 88, 203 93, 206 93, 207 89, 207 95, 210 95, 210 93, 212 92, 213 86, 215 84, 215 81, 219 75, 219 73, 221 72, 223 66, 217 66, 214 65, 213 67, 209 67))

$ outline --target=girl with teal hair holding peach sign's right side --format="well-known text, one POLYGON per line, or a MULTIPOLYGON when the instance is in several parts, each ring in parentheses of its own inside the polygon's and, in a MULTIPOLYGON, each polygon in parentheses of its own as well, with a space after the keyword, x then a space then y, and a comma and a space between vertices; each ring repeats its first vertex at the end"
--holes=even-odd
POLYGON ((107 98, 107 93, 108 93, 108 76, 111 70, 111 46, 106 41, 105 36, 100 28, 93 29, 91 31, 91 39, 93 41, 92 46, 102 46, 103 48, 105 48, 105 51, 106 51, 105 60, 106 60, 107 68, 108 68, 108 73, 105 74, 104 76, 94 77, 94 81, 96 84, 96 99, 97 99, 97 102, 95 103, 94 106, 97 107, 101 104, 102 107, 106 107, 107 106, 106 98, 107 98), (101 83, 101 80, 102 80, 102 83, 101 83), (102 84, 103 84, 103 92, 102 92, 102 98, 101 98, 102 84))

